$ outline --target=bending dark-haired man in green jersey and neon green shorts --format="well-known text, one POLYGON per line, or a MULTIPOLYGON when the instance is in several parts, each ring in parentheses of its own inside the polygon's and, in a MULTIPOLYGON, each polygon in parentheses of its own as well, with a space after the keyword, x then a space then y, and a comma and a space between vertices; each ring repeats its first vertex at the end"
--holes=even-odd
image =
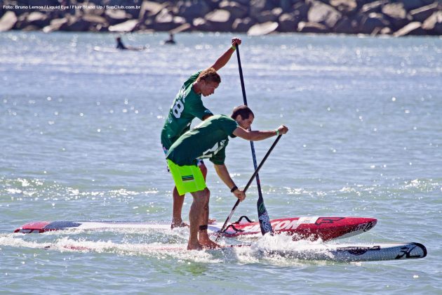
POLYGON ((235 107, 230 117, 217 114, 209 117, 194 129, 184 133, 170 146, 166 155, 170 172, 180 195, 190 192, 194 197, 189 212, 190 236, 187 249, 216 248, 220 245, 211 241, 207 233, 210 191, 206 186, 201 170, 196 166, 198 159, 208 158, 215 171, 230 191, 240 201, 246 198, 239 190, 225 166, 225 149, 229 136, 246 140, 263 140, 288 131, 279 126, 274 131, 249 131, 253 112, 246 106, 235 107))

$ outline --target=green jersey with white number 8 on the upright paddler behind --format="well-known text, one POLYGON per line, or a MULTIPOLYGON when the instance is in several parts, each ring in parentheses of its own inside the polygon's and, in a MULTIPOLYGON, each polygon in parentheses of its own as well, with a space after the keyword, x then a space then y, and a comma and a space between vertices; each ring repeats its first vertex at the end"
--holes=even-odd
POLYGON ((200 73, 201 71, 196 72, 187 78, 173 100, 163 130, 161 130, 161 144, 167 150, 175 140, 190 129, 190 124, 195 117, 202 120, 204 116, 212 115, 212 112, 204 107, 201 93, 196 93, 193 89, 194 81, 200 73))

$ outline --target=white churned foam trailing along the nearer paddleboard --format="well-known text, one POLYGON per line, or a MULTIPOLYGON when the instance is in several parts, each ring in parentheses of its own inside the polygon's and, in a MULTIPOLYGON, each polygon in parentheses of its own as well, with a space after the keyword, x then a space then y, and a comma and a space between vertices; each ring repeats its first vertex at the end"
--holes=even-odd
MULTIPOLYGON (((326 244, 321 240, 300 240, 293 242, 293 237, 287 235, 264 235, 259 240, 251 242, 250 247, 229 247, 228 242, 240 245, 241 242, 228 239, 222 240, 222 249, 206 251, 187 251, 187 231, 181 230, 167 232, 124 232, 123 237, 119 236, 121 231, 112 231, 111 240, 109 232, 94 231, 93 240, 91 233, 87 231, 76 231, 75 237, 72 232, 48 232, 32 240, 32 235, 9 234, 0 235, 0 247, 26 247, 31 249, 48 249, 49 251, 82 251, 98 253, 114 253, 127 256, 170 256, 173 258, 185 259, 196 263, 256 263, 262 259, 272 260, 272 263, 282 263, 287 265, 290 256, 285 255, 286 251, 314 251, 328 252, 326 244), (29 238, 30 237, 30 238, 29 238), (43 237, 43 239, 41 239, 43 237), (50 242, 41 242, 50 240, 50 242), (155 241, 155 242, 135 242, 135 241, 155 241)), ((333 256, 330 255, 330 258, 333 256)), ((308 258, 306 256, 306 258, 308 258)), ((290 263, 289 263, 290 264, 290 263)))

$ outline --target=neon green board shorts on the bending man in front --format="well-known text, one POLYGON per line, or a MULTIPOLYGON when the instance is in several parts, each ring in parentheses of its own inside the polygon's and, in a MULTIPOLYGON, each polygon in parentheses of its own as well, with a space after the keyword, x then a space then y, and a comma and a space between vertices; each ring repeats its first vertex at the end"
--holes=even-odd
POLYGON ((184 195, 186 192, 198 192, 207 188, 203 173, 198 166, 178 166, 170 159, 167 159, 167 164, 180 195, 184 195))

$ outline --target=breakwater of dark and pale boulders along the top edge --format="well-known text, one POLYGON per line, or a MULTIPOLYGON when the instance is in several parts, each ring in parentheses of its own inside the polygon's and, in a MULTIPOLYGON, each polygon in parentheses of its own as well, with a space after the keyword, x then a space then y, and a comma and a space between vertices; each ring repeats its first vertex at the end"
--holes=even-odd
POLYGON ((442 0, 4 0, 10 29, 441 35, 442 0))

